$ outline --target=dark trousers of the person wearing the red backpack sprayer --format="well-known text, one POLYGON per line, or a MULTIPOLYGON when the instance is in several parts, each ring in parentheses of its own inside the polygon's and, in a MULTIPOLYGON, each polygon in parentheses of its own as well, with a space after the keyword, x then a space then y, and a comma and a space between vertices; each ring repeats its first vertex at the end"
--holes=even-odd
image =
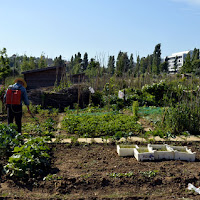
POLYGON ((8 124, 15 123, 17 125, 18 133, 21 133, 22 129, 22 105, 7 105, 7 114, 8 114, 8 124))

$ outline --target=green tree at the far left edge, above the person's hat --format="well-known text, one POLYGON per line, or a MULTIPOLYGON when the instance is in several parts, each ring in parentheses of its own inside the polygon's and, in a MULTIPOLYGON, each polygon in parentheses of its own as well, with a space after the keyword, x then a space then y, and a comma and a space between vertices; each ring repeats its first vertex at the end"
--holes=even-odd
POLYGON ((5 83, 5 78, 11 73, 9 58, 6 54, 6 48, 0 51, 0 79, 2 79, 3 84, 5 83))

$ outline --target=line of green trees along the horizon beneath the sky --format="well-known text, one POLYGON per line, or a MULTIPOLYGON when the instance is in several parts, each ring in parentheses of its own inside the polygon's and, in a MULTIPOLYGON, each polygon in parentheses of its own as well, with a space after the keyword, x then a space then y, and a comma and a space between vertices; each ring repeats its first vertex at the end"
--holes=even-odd
MULTIPOLYGON (((144 76, 145 74, 168 73, 168 57, 164 60, 161 58, 161 44, 157 44, 152 54, 146 57, 137 55, 137 60, 134 61, 134 56, 131 53, 119 51, 117 58, 115 56, 108 57, 107 66, 101 62, 99 58, 88 59, 88 53, 84 53, 83 57, 80 52, 73 55, 70 61, 65 61, 62 56, 54 59, 45 57, 42 54, 39 58, 27 55, 13 55, 8 57, 6 48, 0 51, 0 79, 4 80, 8 76, 16 76, 23 71, 41 69, 49 66, 65 66, 66 72, 69 74, 85 73, 88 76, 102 76, 109 74, 118 77, 132 75, 134 77, 144 76)), ((178 58, 174 60, 174 72, 177 72, 178 58)), ((200 74, 200 56, 199 49, 195 48, 193 54, 187 54, 181 73, 200 74)))

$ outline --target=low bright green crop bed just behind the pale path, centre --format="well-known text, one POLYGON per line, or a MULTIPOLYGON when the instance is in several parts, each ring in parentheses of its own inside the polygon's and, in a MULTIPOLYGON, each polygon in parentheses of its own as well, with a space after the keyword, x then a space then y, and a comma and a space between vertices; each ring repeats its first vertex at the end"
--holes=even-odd
POLYGON ((137 123, 135 116, 123 115, 120 113, 105 113, 101 115, 72 115, 67 114, 62 127, 69 134, 76 134, 83 137, 113 136, 132 132, 139 135, 143 128, 137 123))

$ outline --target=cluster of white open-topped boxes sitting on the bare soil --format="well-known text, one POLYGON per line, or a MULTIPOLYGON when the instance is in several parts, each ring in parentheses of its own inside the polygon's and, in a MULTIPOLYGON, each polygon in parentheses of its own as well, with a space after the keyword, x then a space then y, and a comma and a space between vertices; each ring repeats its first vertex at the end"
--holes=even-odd
POLYGON ((147 147, 137 145, 117 145, 119 156, 134 156, 138 161, 146 160, 185 160, 195 161, 196 152, 187 146, 170 146, 167 144, 148 144, 147 147))

